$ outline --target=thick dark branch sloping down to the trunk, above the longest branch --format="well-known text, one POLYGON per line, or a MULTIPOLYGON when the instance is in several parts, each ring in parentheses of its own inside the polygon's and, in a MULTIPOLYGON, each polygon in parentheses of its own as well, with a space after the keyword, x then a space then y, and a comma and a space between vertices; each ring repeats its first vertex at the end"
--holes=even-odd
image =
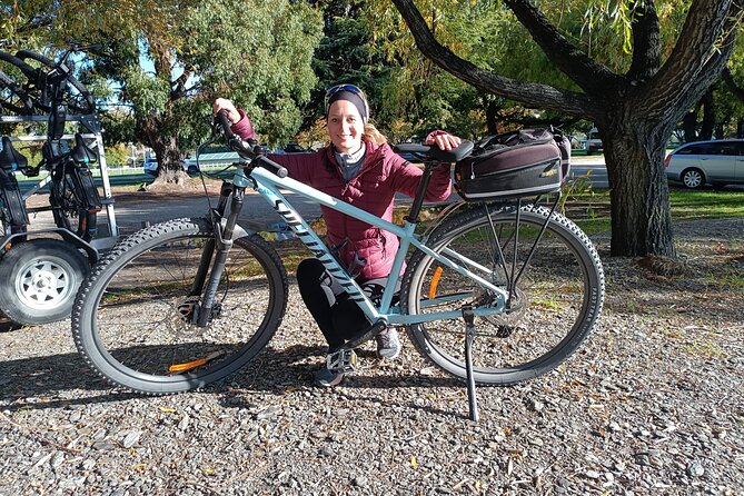
POLYGON ((592 59, 550 24, 532 0, 504 0, 550 62, 588 95, 605 93, 608 86, 623 85, 624 78, 592 59))

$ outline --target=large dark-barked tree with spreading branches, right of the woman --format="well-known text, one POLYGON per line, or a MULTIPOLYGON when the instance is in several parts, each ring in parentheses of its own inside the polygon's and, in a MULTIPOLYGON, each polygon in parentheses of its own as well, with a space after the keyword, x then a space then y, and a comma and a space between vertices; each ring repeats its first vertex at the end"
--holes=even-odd
POLYGON ((393 3, 417 47, 446 71, 483 91, 595 122, 609 176, 612 254, 675 255, 664 150, 676 122, 702 98, 732 53, 738 0, 692 0, 684 23, 672 30, 676 40, 668 50, 657 2, 618 0, 629 63, 614 67, 572 41, 530 0, 504 0, 547 59, 569 78, 568 89, 483 69, 440 43, 411 0, 393 3))

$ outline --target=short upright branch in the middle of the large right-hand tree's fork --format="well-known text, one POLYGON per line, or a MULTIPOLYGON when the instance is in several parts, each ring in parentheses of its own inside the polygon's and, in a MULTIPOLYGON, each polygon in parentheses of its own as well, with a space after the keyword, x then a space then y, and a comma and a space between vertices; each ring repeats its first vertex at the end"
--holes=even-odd
POLYGON ((633 62, 627 72, 631 81, 645 81, 662 62, 662 38, 653 0, 637 4, 633 12, 633 62))

